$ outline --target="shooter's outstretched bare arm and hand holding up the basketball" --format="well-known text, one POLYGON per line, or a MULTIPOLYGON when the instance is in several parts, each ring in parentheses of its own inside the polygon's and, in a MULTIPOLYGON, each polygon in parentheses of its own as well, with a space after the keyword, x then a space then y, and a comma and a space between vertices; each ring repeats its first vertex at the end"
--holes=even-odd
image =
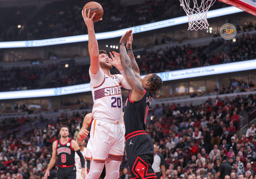
POLYGON ((89 38, 88 48, 89 48, 89 54, 91 59, 90 71, 91 73, 95 74, 100 68, 99 47, 98 47, 98 42, 96 39, 96 35, 94 31, 94 23, 93 23, 93 18, 95 16, 95 13, 90 18, 90 11, 91 10, 89 9, 86 15, 86 9, 82 10, 82 16, 88 29, 88 38, 89 38))

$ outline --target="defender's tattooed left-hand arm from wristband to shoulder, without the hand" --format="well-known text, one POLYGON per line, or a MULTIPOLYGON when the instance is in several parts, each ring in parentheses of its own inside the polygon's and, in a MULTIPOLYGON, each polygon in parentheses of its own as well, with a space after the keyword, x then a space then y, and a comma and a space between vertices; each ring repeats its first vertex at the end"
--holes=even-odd
POLYGON ((120 59, 125 71, 127 82, 132 88, 132 93, 135 92, 137 94, 136 99, 140 100, 144 95, 144 89, 141 81, 133 73, 131 68, 131 60, 126 52, 125 45, 120 45, 120 59))

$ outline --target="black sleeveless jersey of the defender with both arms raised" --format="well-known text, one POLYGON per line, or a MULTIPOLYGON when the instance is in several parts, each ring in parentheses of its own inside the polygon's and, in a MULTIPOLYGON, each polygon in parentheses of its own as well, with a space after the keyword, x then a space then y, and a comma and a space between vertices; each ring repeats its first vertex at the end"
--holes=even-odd
POLYGON ((146 129, 147 113, 152 102, 152 94, 149 89, 144 88, 145 94, 140 101, 131 101, 131 91, 125 102, 124 121, 125 136, 146 129))

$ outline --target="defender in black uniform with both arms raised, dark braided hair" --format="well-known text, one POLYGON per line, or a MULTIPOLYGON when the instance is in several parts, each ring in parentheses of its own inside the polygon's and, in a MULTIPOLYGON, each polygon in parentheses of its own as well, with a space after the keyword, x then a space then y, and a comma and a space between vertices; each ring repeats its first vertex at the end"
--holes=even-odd
POLYGON ((120 40, 120 59, 127 81, 132 88, 124 111, 125 148, 132 178, 155 179, 156 174, 152 169, 154 144, 145 129, 148 109, 152 98, 159 95, 162 80, 156 74, 148 74, 141 79, 138 65, 132 54, 131 32, 131 30, 127 31, 120 40))

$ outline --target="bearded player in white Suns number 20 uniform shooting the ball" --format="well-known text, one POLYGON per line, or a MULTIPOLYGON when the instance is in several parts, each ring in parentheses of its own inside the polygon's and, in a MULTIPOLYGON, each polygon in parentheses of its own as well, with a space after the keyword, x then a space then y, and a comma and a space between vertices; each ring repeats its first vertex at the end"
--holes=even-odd
POLYGON ((90 54, 90 86, 93 95, 93 122, 90 139, 86 150, 86 159, 90 159, 90 171, 85 179, 98 179, 106 165, 105 179, 117 179, 119 166, 123 159, 125 147, 125 126, 123 123, 123 104, 121 86, 131 89, 124 75, 111 75, 110 69, 114 65, 121 74, 124 70, 120 57, 108 54, 98 48, 94 31, 93 17, 90 10, 82 11, 84 22, 88 29, 88 48, 90 54))

